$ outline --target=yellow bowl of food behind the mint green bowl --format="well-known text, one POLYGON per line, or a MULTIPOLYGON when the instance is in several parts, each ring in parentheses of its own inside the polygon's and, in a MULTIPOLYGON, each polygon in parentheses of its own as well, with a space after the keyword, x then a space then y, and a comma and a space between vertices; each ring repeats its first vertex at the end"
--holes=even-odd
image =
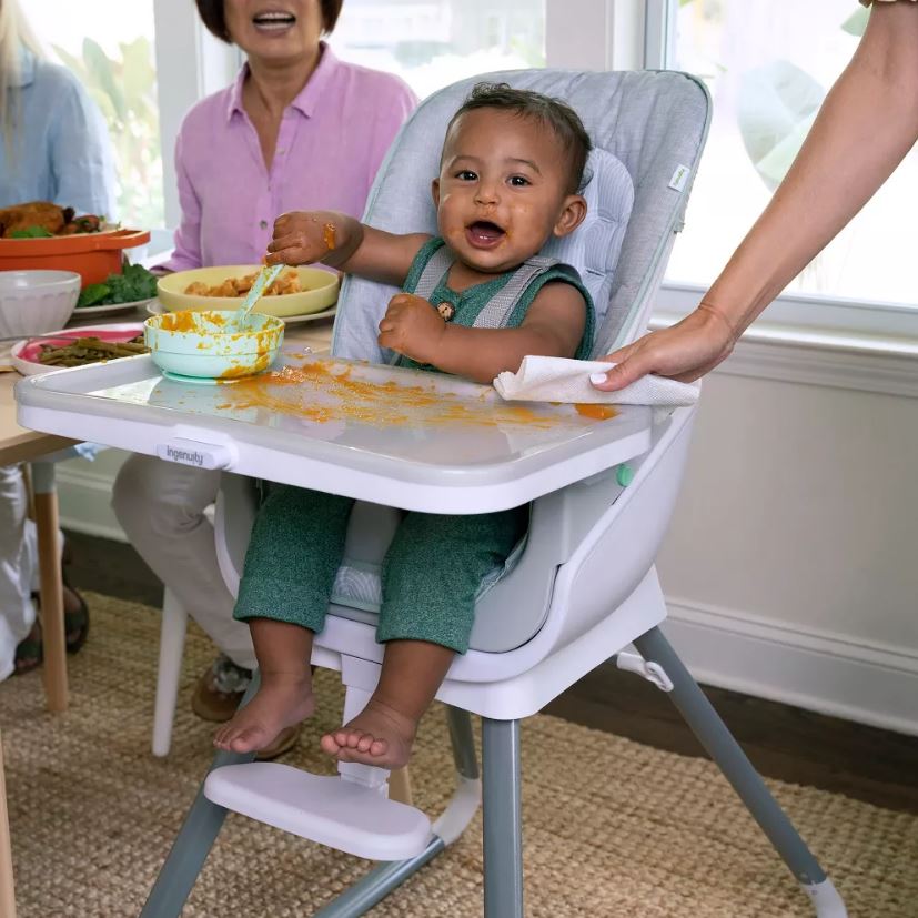
MULTIPOLYGON (((218 286, 229 278, 244 278, 261 270, 260 264, 232 264, 223 268, 195 268, 176 271, 160 278, 157 283, 159 301, 171 312, 180 310, 238 310, 244 296, 195 296, 185 293, 185 287, 195 281, 208 286, 218 286)), ((282 293, 262 296, 255 311, 264 315, 307 315, 327 309, 337 300, 337 274, 321 268, 296 268, 300 275, 299 293, 282 293)))

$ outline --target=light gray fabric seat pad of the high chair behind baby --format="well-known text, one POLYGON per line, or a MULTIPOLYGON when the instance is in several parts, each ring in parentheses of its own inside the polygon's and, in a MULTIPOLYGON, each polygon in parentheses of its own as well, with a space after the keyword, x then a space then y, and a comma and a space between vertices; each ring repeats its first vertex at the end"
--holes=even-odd
MULTIPOLYGON (((431 180, 438 173, 446 125, 480 81, 507 82, 564 99, 591 134, 595 149, 582 186, 587 216, 569 236, 551 240, 542 254, 581 272, 597 313, 593 354, 608 353, 646 325, 650 294, 658 286, 673 233, 680 228, 688 180, 704 143, 707 93, 685 74, 653 71, 508 71, 456 83, 427 99, 400 132, 371 192, 364 214, 369 224, 399 233, 436 233, 431 180)), ((381 349, 376 337, 395 292, 395 287, 346 278, 332 353, 390 362, 392 353, 381 349)), ((381 563, 402 515, 375 504, 355 505, 333 591, 335 614, 375 621, 382 594, 381 563)), ((480 598, 513 569, 523 549, 521 543, 507 564, 492 572, 480 598)), ((537 631, 533 622, 541 621, 529 611, 523 631, 514 633, 505 619, 492 627, 488 618, 495 616, 483 616, 478 609, 471 642, 474 649, 518 646, 537 631)), ((512 609, 501 614, 512 615, 512 609)))

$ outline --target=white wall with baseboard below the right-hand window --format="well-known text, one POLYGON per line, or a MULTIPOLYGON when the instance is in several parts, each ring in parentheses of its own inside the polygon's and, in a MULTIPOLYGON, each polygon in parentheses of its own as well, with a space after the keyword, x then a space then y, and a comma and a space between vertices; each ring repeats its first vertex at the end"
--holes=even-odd
POLYGON ((918 734, 917 458, 914 397, 712 374, 659 558, 695 674, 918 734))

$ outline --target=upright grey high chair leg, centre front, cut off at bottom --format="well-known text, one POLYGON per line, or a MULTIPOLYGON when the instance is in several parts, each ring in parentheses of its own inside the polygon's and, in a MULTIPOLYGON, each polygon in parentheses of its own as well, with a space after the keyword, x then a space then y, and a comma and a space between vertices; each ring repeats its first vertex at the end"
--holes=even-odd
POLYGON ((485 918, 523 918, 519 722, 482 718, 485 918))

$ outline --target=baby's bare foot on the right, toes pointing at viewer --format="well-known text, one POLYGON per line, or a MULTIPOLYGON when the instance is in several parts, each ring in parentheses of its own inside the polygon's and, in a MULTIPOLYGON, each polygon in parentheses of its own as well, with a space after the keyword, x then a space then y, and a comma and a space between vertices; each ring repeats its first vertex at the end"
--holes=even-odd
POLYGON ((416 720, 371 698, 350 724, 325 734, 320 745, 339 761, 393 769, 407 765, 416 732, 416 720))

